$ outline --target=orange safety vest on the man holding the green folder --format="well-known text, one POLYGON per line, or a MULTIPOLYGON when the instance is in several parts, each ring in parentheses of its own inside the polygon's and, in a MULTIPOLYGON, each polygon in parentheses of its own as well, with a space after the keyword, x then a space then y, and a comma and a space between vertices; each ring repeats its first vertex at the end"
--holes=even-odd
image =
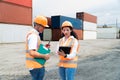
MULTIPOLYGON (((38 62, 36 62, 34 60, 34 57, 31 56, 30 53, 29 53, 29 50, 28 50, 28 36, 30 34, 36 34, 36 33, 33 32, 33 31, 29 32, 27 34, 27 37, 26 37, 26 67, 27 68, 42 68, 43 66, 41 64, 39 64, 38 62)), ((37 36, 38 36, 38 44, 37 44, 37 46, 39 46, 40 45, 40 38, 39 38, 39 35, 37 35, 37 36)))

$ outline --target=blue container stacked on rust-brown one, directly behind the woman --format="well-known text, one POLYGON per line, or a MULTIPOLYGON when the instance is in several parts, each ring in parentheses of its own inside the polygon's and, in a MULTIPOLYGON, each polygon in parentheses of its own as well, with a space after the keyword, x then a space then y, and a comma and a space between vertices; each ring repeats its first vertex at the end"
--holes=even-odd
POLYGON ((52 22, 52 40, 53 41, 58 41, 61 37, 61 25, 64 21, 70 21, 73 25, 73 29, 75 32, 77 32, 79 39, 82 38, 82 20, 80 19, 75 19, 71 17, 66 17, 66 16, 52 16, 51 17, 51 22, 52 22))

